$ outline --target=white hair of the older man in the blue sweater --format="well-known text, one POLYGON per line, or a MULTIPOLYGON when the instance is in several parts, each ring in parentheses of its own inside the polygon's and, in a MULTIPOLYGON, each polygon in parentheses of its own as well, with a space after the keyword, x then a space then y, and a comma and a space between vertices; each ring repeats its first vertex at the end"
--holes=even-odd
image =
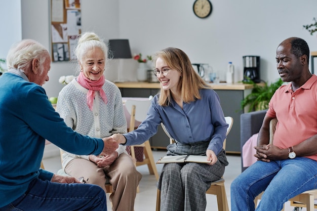
MULTIPOLYGON (((20 69, 27 72, 32 69, 33 59, 39 61, 41 66, 49 56, 45 47, 33 39, 23 39, 12 45, 7 55, 8 69, 20 69)), ((39 69, 42 73, 43 68, 39 69)))

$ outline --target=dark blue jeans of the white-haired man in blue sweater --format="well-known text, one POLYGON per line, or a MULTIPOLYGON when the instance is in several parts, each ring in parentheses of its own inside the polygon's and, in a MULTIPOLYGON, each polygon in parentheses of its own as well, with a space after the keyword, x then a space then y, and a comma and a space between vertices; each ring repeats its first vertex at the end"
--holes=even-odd
POLYGON ((106 194, 97 185, 65 184, 34 179, 28 190, 0 211, 106 211, 106 194))

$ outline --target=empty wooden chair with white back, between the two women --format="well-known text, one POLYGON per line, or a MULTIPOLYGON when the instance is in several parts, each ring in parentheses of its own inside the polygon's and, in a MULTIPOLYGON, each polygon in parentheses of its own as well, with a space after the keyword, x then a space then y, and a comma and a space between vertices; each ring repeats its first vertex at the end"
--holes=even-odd
MULTIPOLYGON (((146 118, 147 110, 150 107, 151 101, 150 100, 127 100, 125 102, 125 106, 128 109, 130 117, 130 126, 129 126, 129 132, 133 131, 135 128, 135 121, 142 122, 146 118), (131 108, 131 110, 130 110, 131 108)), ((155 175, 156 180, 159 180, 159 174, 157 173, 152 149, 150 146, 149 140, 145 141, 143 144, 140 145, 133 145, 130 146, 131 149, 131 156, 136 159, 135 155, 135 147, 143 147, 144 151, 144 157, 143 161, 136 161, 136 166, 139 165, 145 165, 147 164, 149 173, 151 175, 155 175)), ((137 190, 139 192, 139 190, 137 190)))

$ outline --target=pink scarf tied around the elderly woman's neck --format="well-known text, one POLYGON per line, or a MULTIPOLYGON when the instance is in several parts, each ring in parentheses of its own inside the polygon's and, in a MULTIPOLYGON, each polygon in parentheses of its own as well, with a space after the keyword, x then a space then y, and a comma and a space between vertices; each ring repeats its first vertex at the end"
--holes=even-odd
POLYGON ((83 72, 80 73, 80 75, 77 78, 77 81, 80 85, 82 85, 84 88, 88 89, 87 93, 87 105, 89 109, 93 110, 93 103, 95 98, 95 91, 99 91, 99 94, 105 104, 108 103, 108 98, 106 96, 106 93, 103 91, 102 86, 104 84, 105 78, 104 75, 102 75, 99 80, 90 80, 88 79, 83 72))

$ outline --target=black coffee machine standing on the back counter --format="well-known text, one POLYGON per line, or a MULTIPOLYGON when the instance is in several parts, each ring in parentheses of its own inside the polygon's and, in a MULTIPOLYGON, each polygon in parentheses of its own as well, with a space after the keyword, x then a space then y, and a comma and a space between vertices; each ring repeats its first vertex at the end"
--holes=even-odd
POLYGON ((260 79, 260 57, 259 56, 243 56, 243 81, 252 80, 259 83, 260 79))

